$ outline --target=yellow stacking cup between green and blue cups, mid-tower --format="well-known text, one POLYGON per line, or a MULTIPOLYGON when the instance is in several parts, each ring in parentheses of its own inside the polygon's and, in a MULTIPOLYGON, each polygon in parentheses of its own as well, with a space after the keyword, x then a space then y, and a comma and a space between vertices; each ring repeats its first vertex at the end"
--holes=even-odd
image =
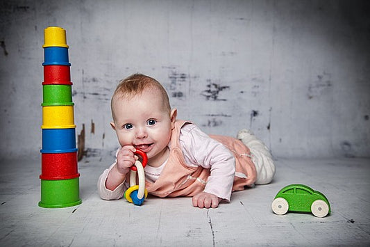
POLYGON ((76 125, 74 125, 74 106, 42 106, 41 128, 76 128, 76 125))

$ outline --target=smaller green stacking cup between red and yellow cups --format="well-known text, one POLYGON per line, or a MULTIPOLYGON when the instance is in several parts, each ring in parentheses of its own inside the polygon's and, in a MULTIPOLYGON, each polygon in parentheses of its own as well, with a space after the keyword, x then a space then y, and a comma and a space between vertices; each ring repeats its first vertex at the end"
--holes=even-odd
POLYGON ((71 85, 43 85, 42 106, 73 106, 71 85))

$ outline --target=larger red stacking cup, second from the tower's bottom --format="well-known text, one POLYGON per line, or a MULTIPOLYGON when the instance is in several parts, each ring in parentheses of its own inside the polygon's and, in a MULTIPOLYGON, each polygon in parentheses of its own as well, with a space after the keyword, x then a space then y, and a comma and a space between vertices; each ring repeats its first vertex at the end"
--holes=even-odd
POLYGON ((41 154, 42 180, 69 180, 79 177, 77 172, 77 152, 41 154))

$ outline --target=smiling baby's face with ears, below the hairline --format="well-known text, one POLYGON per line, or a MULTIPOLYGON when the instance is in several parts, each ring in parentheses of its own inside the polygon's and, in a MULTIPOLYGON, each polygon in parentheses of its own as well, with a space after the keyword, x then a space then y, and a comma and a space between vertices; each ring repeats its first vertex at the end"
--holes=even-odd
POLYGON ((133 98, 116 98, 112 103, 115 129, 119 144, 133 145, 146 152, 149 160, 165 152, 176 113, 163 104, 159 93, 144 90, 133 98))

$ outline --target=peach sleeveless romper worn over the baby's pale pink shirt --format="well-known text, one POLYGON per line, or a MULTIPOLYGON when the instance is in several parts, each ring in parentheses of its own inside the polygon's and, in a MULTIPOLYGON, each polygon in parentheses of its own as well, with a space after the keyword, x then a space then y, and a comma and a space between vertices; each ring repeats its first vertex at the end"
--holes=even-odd
MULTIPOLYGON (((192 167, 185 164, 181 151, 179 136, 180 129, 185 125, 183 120, 177 120, 171 133, 170 154, 167 164, 162 170, 160 177, 154 183, 146 181, 146 189, 149 193, 158 197, 194 196, 204 190, 210 176, 210 169, 202 166, 192 167)), ((228 136, 210 135, 211 138, 226 146, 235 157, 235 178, 233 191, 242 191, 244 186, 251 186, 257 177, 255 166, 250 158, 250 150, 235 138, 228 136)))

